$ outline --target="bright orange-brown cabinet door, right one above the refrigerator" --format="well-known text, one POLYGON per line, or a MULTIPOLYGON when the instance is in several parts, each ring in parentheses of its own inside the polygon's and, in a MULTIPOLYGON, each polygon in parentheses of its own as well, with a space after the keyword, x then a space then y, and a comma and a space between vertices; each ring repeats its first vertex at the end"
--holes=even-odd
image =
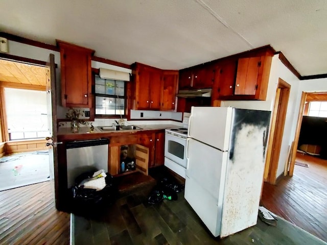
POLYGON ((241 58, 238 61, 235 94, 255 95, 261 57, 241 58))

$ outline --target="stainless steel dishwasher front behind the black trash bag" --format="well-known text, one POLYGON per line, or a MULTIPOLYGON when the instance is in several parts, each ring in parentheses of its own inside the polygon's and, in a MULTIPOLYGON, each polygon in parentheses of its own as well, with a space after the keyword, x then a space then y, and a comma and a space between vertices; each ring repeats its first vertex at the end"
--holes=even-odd
POLYGON ((66 143, 67 188, 75 184, 75 179, 87 171, 104 169, 108 171, 109 139, 90 139, 66 143))

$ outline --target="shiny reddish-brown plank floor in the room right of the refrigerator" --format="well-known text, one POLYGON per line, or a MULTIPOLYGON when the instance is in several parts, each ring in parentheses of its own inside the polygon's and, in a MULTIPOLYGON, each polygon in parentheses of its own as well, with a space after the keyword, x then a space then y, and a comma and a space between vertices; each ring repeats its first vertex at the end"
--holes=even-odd
POLYGON ((261 203, 273 213, 327 242, 327 160, 297 153, 293 177, 264 183, 261 203))

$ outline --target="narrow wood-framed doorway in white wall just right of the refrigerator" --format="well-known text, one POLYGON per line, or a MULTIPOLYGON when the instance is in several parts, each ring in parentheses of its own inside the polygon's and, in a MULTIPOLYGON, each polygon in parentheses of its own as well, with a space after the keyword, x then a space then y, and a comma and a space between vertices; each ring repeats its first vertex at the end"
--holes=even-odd
POLYGON ((264 181, 270 184, 276 183, 279 154, 281 152, 284 133, 287 105, 291 85, 283 79, 278 79, 278 86, 275 96, 275 105, 272 113, 271 130, 269 135, 269 148, 264 172, 264 181))

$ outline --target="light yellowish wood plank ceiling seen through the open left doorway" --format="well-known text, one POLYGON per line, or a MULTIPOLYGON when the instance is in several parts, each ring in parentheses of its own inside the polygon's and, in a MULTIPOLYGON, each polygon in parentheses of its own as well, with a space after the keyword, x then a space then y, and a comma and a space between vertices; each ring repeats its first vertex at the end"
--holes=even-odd
POLYGON ((45 86, 47 67, 0 59, 0 81, 45 86))

